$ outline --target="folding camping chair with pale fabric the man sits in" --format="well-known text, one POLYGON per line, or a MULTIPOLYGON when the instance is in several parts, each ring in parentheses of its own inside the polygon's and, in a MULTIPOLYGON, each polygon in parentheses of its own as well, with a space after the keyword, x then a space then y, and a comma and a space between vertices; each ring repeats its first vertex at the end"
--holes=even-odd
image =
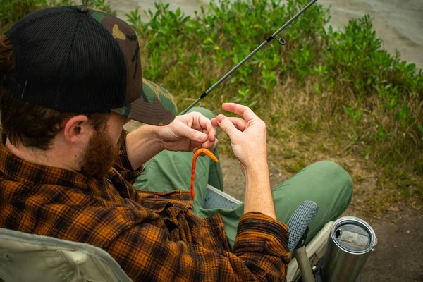
MULTIPOLYGON (((309 202, 309 201, 308 201, 309 202)), ((225 207, 232 209, 241 202, 226 193, 209 186, 204 208, 225 207)), ((301 207, 301 206, 300 206, 301 207)), ((301 225, 304 211, 290 225, 301 225)), ((292 222, 291 222, 292 221, 292 222)), ((307 259, 315 259, 324 247, 331 224, 328 223, 307 247, 307 259)), ((291 235, 290 246, 297 245, 300 236, 291 235), (295 237, 296 236, 296 237, 295 237)), ((291 260, 288 265, 288 282, 298 278, 298 263, 291 260)), ((48 236, 22 233, 0 228, 0 281, 90 281, 130 282, 130 278, 108 252, 86 243, 76 243, 48 236)))

